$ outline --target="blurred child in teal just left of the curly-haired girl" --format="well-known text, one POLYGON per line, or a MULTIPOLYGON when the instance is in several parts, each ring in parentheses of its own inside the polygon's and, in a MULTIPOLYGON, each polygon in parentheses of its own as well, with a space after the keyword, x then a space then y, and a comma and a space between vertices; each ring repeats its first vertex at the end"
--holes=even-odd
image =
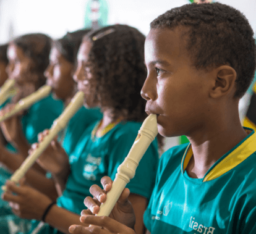
MULTIPOLYGON (((69 104, 70 99, 74 96, 77 91, 77 87, 72 78, 72 75, 75 71, 76 56, 79 49, 82 37, 88 33, 89 30, 78 30, 72 33, 67 33, 63 38, 53 41, 51 46, 51 52, 49 56, 49 65, 45 71, 45 76, 47 77, 46 83, 53 87, 53 96, 56 99, 60 99, 64 102, 64 106, 69 104)), ((88 123, 100 119, 101 113, 98 110, 88 110, 85 107, 82 107, 68 124, 68 127, 64 130, 64 133, 59 137, 60 142, 54 140, 53 143, 55 146, 63 143, 63 147, 67 154, 72 151, 79 136, 82 134, 81 124, 88 125, 88 123), (83 120, 83 122, 82 122, 83 120), (80 122, 80 125, 77 124, 80 122), (64 140, 64 141, 63 141, 64 140), (63 141, 63 142, 62 142, 63 141)), ((40 133, 41 135, 41 133, 40 133)), ((32 144, 32 147, 35 147, 37 143, 32 144)), ((58 148, 60 149, 60 148, 58 148)), ((62 149, 62 148, 61 148, 62 149)), ((63 149, 62 149, 63 150, 63 149)), ((7 153, 4 151, 4 153, 7 153)), ((53 159, 52 155, 49 156, 50 159, 53 159)), ((13 154, 6 155, 4 157, 4 164, 9 165, 14 169, 18 169, 22 161, 17 161, 17 156, 13 154)), ((65 164, 68 159, 62 160, 62 164, 65 164)), ((53 166, 53 161, 48 161, 48 164, 53 166)), ((46 178, 38 173, 35 170, 30 169, 26 173, 27 182, 30 183, 38 191, 41 191, 48 195, 51 199, 58 197, 58 191, 55 191, 54 178, 46 178)), ((31 226, 31 220, 20 219, 14 215, 9 209, 10 215, 4 216, 6 212, 1 212, 0 226, 2 229, 6 229, 5 233, 12 233, 10 227, 19 230, 20 232, 27 232, 31 226), (8 225, 7 225, 8 224, 8 225), (23 231, 22 231, 23 230, 23 231)))

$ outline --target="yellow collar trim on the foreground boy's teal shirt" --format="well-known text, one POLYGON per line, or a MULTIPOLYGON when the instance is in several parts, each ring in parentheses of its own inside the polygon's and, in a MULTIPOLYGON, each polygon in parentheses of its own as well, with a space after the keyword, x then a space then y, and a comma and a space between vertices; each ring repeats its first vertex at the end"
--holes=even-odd
MULTIPOLYGON (((256 151, 256 133, 250 128, 244 128, 244 130, 250 134, 245 138, 244 141, 242 141, 241 144, 237 144, 237 146, 231 149, 231 153, 225 154, 208 170, 208 172, 203 177, 203 182, 214 180, 215 178, 220 177, 224 173, 241 164, 242 161, 247 159, 247 157, 256 151)), ((192 147, 191 144, 189 144, 182 157, 182 173, 185 172, 192 155, 192 147)))

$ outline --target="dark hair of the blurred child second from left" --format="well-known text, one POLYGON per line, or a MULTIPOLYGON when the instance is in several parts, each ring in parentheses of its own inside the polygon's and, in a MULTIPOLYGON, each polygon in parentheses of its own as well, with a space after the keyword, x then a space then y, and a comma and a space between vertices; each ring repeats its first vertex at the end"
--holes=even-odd
POLYGON ((36 74, 36 88, 45 85, 46 78, 43 74, 49 65, 49 52, 52 40, 42 33, 31 33, 19 36, 10 43, 19 46, 27 57, 34 62, 32 72, 36 74))

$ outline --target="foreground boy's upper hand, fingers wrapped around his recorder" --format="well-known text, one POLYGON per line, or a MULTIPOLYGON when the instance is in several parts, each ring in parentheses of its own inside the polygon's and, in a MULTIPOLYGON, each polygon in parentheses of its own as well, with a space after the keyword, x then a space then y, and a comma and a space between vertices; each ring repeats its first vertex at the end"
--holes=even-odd
MULTIPOLYGON (((81 212, 81 219, 83 219, 83 215, 98 214, 100 211, 100 204, 106 201, 108 196, 106 193, 111 190, 112 183, 111 178, 103 177, 101 178, 101 185, 103 185, 105 190, 102 190, 98 185, 91 186, 90 193, 93 195, 93 198, 89 196, 85 198, 83 203, 88 207, 88 209, 81 212)), ((129 194, 130 191, 128 188, 125 188, 124 191, 122 191, 121 196, 117 200, 117 203, 109 214, 109 217, 126 225, 127 227, 134 228, 135 214, 132 204, 128 201, 129 194)))

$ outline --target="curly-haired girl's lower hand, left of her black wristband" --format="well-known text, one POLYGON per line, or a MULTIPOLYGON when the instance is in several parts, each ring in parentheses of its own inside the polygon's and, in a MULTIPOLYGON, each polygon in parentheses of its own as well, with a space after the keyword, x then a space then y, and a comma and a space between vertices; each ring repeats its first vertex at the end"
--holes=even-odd
POLYGON ((25 185, 25 180, 20 180, 20 186, 14 182, 6 182, 6 192, 2 199, 9 201, 12 212, 22 219, 41 220, 45 209, 51 204, 51 199, 43 193, 25 185), (15 194, 14 194, 15 193, 15 194))

